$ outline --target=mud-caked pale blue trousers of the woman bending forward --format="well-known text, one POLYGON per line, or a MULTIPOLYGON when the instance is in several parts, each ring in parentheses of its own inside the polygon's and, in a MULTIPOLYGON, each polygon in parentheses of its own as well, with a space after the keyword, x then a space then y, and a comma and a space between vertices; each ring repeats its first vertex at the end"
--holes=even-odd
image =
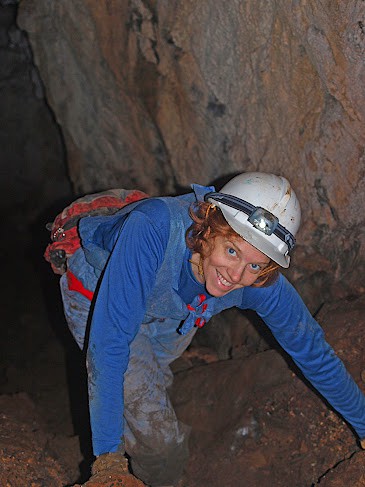
MULTIPOLYGON (((68 326, 83 349, 91 303, 68 289, 65 274, 60 287, 68 326)), ((171 404, 169 365, 187 348, 195 331, 182 336, 169 319, 151 321, 141 325, 131 344, 124 374, 125 450, 133 473, 152 487, 174 485, 188 459, 190 428, 177 419, 171 404)))

